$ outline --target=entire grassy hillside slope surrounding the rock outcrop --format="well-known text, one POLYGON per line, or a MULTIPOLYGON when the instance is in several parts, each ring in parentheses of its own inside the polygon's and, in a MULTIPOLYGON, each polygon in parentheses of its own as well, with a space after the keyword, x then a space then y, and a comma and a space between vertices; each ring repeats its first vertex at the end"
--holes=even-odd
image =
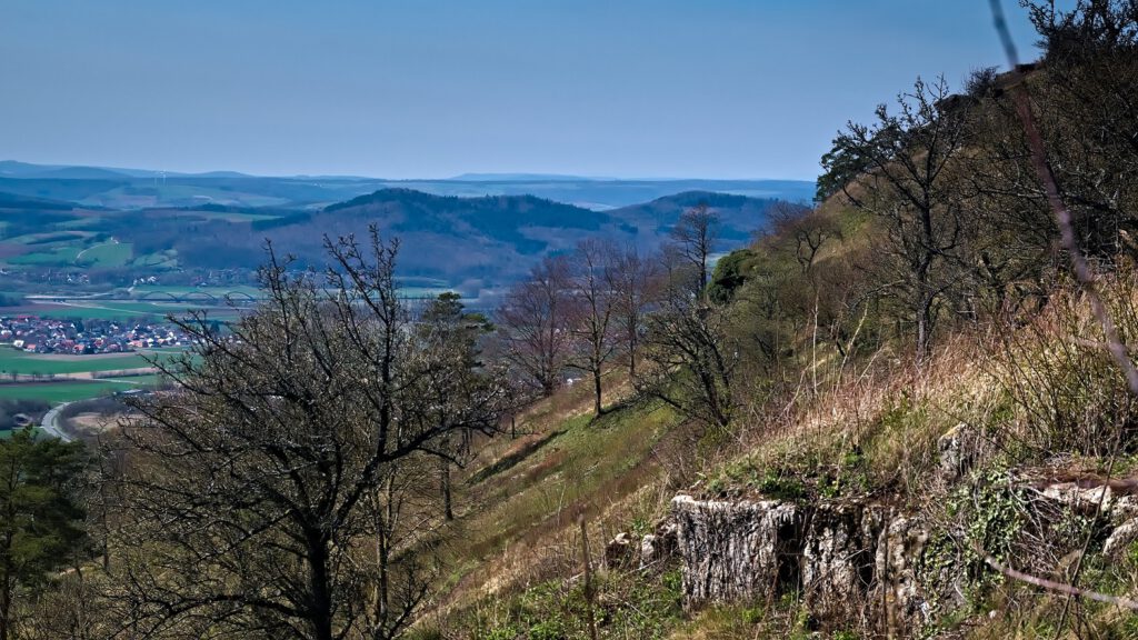
MULTIPOLYGON (((846 239, 824 249, 822 269, 841 264, 851 252, 868 246, 864 216, 836 203, 827 204, 826 211, 839 220, 846 239)), ((754 266, 780 259, 765 260, 756 260, 754 266)), ((1069 334, 1046 334, 1044 345, 1059 344, 1069 334)), ((595 422, 579 415, 587 407, 583 395, 556 400, 561 409, 539 408, 529 420, 531 435, 494 443, 471 467, 472 477, 480 482, 473 484, 470 499, 480 508, 463 518, 462 542, 452 548, 450 558, 452 586, 423 627, 436 625, 461 638, 585 637, 576 514, 587 514, 596 556, 616 532, 644 531, 663 514, 677 486, 665 473, 683 463, 699 465, 703 479, 694 487, 686 482, 678 486, 706 494, 799 500, 868 497, 943 516, 949 497, 943 487, 934 491, 930 485, 938 465, 937 440, 966 424, 987 434, 986 438, 1024 441, 1023 429, 1031 417, 1013 405, 995 377, 1000 355, 991 337, 946 333, 920 376, 912 370, 904 347, 887 343, 883 351, 863 354, 849 367, 835 367, 841 359, 831 347, 823 347, 818 360, 826 366, 816 394, 802 389, 776 416, 754 413, 767 418, 736 425, 737 442, 700 448, 699 454, 694 441, 677 437, 675 418, 651 404, 625 408, 595 422), (671 436, 661 438, 668 433, 671 436), (657 452, 667 449, 659 443, 668 440, 675 449, 686 449, 685 456, 658 458, 657 452), (676 446, 678 442, 683 444, 676 446)), ((1022 452, 1014 458, 999 452, 990 456, 986 469, 1009 462, 1039 463, 1022 452)), ((1138 460, 1119 465, 1122 471, 1122 466, 1133 468, 1138 460)), ((686 475, 690 481, 696 474, 686 475)), ((970 512, 960 517, 988 522, 982 509, 970 512)), ((986 528, 982 535, 991 533, 986 528)), ((1138 545, 1122 561, 1106 565, 1091 551, 1083 584, 1112 593, 1132 592, 1138 545)), ((646 577, 637 572, 602 572, 601 635, 810 637, 808 615, 794 600, 760 607, 723 605, 685 614, 676 605, 675 575, 674 569, 646 577), (643 615, 630 621, 633 610, 643 615)), ((991 638, 1030 634, 1053 624, 1054 613, 1062 609, 1062 598, 1001 582, 991 573, 979 580, 968 596, 968 606, 975 610, 949 612, 956 617, 946 617, 948 626, 942 631, 991 638), (1009 612, 1008 607, 1028 620, 973 615, 1009 612)), ((1102 630, 1133 631, 1133 625, 1112 617, 1108 607, 1081 606, 1102 630)))

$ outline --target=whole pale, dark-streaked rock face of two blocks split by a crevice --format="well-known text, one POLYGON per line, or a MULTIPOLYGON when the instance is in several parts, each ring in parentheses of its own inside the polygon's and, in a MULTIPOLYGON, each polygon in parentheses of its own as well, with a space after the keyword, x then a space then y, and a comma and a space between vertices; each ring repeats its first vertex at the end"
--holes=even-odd
POLYGON ((687 607, 801 592, 817 620, 874 620, 897 631, 929 622, 917 575, 929 532, 914 518, 858 502, 679 495, 671 508, 687 607))

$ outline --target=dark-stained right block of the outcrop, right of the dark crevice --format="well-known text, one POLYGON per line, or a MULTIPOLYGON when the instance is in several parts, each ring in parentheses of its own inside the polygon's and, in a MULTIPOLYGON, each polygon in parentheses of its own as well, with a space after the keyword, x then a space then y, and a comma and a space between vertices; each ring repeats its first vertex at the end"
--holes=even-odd
POLYGON ((802 592, 818 618, 848 618, 866 605, 875 580, 881 507, 820 504, 810 516, 802 547, 802 592))

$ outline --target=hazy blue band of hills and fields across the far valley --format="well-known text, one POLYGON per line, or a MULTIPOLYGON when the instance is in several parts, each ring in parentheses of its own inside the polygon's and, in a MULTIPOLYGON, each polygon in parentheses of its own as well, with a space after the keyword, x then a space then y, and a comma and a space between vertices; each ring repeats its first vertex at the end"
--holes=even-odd
POLYGON ((319 263, 325 235, 362 235, 376 224, 384 235, 399 237, 399 270, 413 286, 485 298, 543 256, 586 237, 652 251, 679 215, 699 204, 721 216, 721 249, 742 245, 762 227, 774 202, 684 191, 596 211, 533 195, 457 197, 385 188, 322 208, 112 210, 0 191, 0 278, 7 280, 0 290, 44 281, 129 286, 151 276, 190 284, 201 273, 249 273, 264 260, 266 240, 302 264, 319 263))

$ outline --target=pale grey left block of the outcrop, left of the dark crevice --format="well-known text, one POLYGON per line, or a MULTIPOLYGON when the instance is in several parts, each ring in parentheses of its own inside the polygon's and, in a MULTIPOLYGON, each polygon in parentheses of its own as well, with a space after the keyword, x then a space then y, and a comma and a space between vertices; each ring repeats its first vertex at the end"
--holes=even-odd
POLYGON ((797 589, 805 511, 780 501, 671 501, 684 604, 765 598, 797 589))

